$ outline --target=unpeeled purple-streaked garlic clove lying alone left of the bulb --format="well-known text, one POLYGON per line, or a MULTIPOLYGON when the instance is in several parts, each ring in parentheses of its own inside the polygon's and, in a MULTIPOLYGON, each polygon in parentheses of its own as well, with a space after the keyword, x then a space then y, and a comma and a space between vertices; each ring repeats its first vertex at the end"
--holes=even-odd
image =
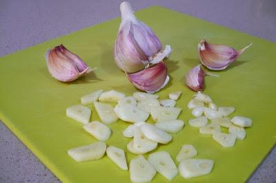
POLYGON ((59 81, 69 82, 91 72, 92 69, 79 56, 63 45, 46 52, 46 63, 50 74, 59 81))

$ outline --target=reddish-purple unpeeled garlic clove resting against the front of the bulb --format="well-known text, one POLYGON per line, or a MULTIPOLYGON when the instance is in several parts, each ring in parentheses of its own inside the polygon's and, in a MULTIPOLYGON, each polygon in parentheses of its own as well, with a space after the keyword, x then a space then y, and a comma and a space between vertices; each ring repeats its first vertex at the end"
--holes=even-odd
POLYGON ((144 92, 155 93, 166 86, 170 79, 165 63, 157 63, 136 73, 128 74, 128 80, 144 92))

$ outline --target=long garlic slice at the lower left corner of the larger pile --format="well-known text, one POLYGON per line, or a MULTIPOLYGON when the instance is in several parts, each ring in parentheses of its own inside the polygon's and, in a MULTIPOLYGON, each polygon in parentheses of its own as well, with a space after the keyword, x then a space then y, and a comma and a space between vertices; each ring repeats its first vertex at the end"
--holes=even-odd
POLYGON ((104 142, 95 142, 68 150, 68 155, 77 162, 99 160, 103 157, 104 153, 106 153, 106 144, 104 142))

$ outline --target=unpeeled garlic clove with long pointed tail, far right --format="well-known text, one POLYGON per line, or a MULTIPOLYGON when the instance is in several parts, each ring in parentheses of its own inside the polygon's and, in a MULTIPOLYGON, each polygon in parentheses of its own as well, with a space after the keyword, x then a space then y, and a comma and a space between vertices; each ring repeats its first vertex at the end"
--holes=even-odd
POLYGON ((201 40, 197 47, 203 65, 211 70, 222 70, 233 63, 251 45, 252 43, 242 50, 236 51, 227 45, 209 44, 205 40, 201 40))

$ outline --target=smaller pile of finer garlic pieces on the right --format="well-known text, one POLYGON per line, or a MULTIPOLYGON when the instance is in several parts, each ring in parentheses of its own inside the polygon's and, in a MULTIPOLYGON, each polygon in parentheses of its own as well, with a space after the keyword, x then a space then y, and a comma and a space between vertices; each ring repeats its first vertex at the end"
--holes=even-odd
POLYGON ((196 118, 188 121, 192 127, 199 128, 199 133, 212 135, 213 139, 222 147, 233 147, 236 139, 244 140, 246 131, 244 127, 251 127, 252 120, 243 116, 229 118, 235 111, 234 107, 217 107, 206 94, 198 92, 188 103, 188 108, 193 109, 196 118), (211 122, 208 123, 208 120, 211 122), (228 128, 228 133, 221 131, 221 127, 228 128))

